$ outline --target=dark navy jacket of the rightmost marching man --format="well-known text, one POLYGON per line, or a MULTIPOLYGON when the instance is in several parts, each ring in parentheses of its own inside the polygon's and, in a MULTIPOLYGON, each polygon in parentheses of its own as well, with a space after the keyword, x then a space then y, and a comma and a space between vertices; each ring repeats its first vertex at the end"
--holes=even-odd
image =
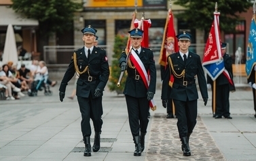
POLYGON ((196 78, 198 78, 198 85, 200 88, 200 92, 202 98, 208 98, 207 86, 206 86, 206 78, 204 76, 204 70, 202 69, 202 63, 200 56, 196 53, 192 53, 189 51, 187 56, 187 62, 183 61, 183 57, 181 57, 180 53, 173 53, 169 55, 167 58, 171 58, 173 68, 177 74, 181 74, 181 72, 185 69, 185 78, 188 82, 187 86, 183 85, 183 77, 177 78, 175 77, 172 88, 168 88, 168 83, 170 80, 170 62, 167 63, 167 69, 164 74, 164 80, 162 83, 162 97, 161 99, 177 99, 179 101, 189 101, 198 99, 198 90, 196 87, 196 78))

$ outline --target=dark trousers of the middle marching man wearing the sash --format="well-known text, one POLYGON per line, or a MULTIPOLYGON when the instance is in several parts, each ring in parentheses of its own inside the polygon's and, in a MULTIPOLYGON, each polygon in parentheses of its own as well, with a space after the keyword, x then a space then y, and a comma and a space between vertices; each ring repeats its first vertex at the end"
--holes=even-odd
POLYGON ((149 123, 147 118, 149 101, 147 97, 136 98, 126 95, 126 105, 132 136, 139 136, 140 129, 142 133, 147 133, 147 124, 149 123))

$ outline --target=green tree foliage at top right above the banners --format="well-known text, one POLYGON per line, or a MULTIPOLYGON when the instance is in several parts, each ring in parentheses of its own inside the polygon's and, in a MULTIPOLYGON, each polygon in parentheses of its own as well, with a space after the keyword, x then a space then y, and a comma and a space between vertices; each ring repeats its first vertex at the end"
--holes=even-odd
POLYGON ((220 30, 223 32, 234 32, 240 20, 239 14, 253 6, 253 3, 245 0, 177 0, 175 4, 185 7, 186 10, 175 16, 188 22, 189 28, 198 28, 208 33, 216 2, 217 11, 220 12, 220 30))

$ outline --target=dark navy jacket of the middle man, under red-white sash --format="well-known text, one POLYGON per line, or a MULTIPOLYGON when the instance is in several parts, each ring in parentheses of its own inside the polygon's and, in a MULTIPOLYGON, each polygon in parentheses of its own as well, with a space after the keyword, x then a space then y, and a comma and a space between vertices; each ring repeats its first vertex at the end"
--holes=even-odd
MULTIPOLYGON (((126 52, 125 50, 123 50, 119 60, 119 64, 121 64, 122 62, 126 62, 126 56, 126 52)), ((135 69, 127 66, 128 76, 126 78, 126 85, 124 87, 124 95, 130 95, 132 97, 147 97, 147 91, 156 93, 156 65, 153 57, 153 51, 151 51, 151 49, 141 47, 141 53, 139 53, 139 58, 141 59, 141 62, 143 62, 145 70, 149 72, 149 88, 147 89, 145 87, 141 78, 139 78, 139 80, 134 79, 135 69)), ((128 62, 126 63, 128 64, 128 62)), ((139 72, 136 73, 139 74, 139 72)))

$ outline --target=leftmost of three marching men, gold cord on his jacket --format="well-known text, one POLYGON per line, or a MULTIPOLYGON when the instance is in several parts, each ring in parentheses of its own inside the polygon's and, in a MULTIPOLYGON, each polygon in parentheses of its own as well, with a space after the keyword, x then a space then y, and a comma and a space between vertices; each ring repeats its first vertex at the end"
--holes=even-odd
POLYGON ((81 133, 83 135, 86 148, 84 156, 91 156, 90 135, 92 133, 90 118, 94 125, 94 145, 93 152, 100 149, 100 133, 103 120, 103 91, 109 79, 109 63, 105 50, 95 47, 93 42, 97 30, 92 26, 82 29, 84 47, 77 49, 73 53, 69 68, 65 72, 60 84, 60 101, 65 97, 66 86, 74 76, 79 74, 77 80, 77 101, 81 112, 81 133))

